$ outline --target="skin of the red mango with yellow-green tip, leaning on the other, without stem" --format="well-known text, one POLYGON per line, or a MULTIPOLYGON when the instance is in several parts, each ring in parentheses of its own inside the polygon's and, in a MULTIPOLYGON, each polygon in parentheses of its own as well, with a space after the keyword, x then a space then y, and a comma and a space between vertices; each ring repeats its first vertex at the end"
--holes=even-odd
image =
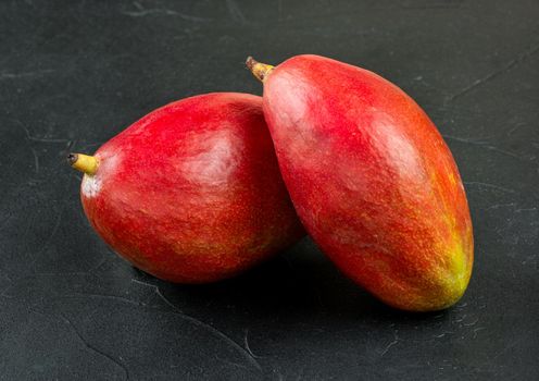
POLYGON ((266 73, 263 108, 303 225, 348 276, 404 310, 459 300, 473 266, 466 195, 448 146, 404 91, 298 56, 266 73))

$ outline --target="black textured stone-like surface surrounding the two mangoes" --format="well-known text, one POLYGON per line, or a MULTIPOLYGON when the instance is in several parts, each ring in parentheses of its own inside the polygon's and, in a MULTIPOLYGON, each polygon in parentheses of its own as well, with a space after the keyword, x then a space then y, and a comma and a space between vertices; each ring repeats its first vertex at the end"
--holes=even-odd
POLYGON ((538 50, 537 0, 1 1, 0 379, 539 379, 538 50), (476 237, 454 308, 386 308, 309 239, 167 284, 88 225, 67 151, 304 52, 397 83, 447 138, 476 237))

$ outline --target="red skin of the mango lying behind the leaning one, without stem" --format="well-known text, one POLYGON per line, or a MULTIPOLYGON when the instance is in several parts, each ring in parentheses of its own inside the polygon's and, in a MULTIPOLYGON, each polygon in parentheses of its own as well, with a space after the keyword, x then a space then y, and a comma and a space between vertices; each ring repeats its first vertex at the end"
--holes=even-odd
POLYGON ((105 143, 84 210, 141 270, 178 283, 238 274, 304 235, 281 180, 262 99, 170 103, 105 143))

